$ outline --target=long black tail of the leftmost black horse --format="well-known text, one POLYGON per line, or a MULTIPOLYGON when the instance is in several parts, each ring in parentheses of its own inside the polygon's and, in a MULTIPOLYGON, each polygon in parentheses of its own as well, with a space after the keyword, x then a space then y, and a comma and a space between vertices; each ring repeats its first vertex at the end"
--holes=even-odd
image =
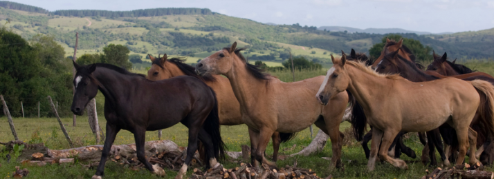
POLYGON ((204 129, 211 136, 212 146, 214 149, 214 158, 224 158, 226 154, 226 145, 221 140, 221 134, 219 132, 219 114, 218 114, 218 101, 216 99, 216 93, 211 89, 214 96, 214 106, 208 117, 204 121, 204 129))

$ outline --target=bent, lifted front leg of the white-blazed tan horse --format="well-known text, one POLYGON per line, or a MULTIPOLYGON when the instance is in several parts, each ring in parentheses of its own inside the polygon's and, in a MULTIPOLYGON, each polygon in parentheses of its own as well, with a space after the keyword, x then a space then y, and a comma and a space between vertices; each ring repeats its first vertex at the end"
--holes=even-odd
POLYGON ((394 167, 399 167, 401 169, 408 169, 408 166, 405 163, 405 161, 399 158, 392 158, 387 155, 386 150, 390 148, 390 145, 393 142, 394 137, 398 133, 399 131, 394 131, 392 129, 387 129, 386 131, 384 131, 383 140, 381 141, 381 149, 379 149, 379 158, 381 158, 381 160, 390 162, 394 167))

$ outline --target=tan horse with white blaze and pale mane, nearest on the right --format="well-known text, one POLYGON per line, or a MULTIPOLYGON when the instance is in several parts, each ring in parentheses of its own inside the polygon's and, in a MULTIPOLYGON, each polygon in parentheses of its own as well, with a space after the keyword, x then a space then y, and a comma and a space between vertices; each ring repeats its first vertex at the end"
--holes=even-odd
MULTIPOLYGON (((468 133, 475 134, 468 125, 480 104, 477 90, 493 94, 491 83, 457 78, 414 83, 397 74, 378 74, 363 63, 346 61, 345 54, 341 59, 331 57, 331 60, 334 65, 328 70, 315 98, 327 105, 331 98, 348 89, 362 105, 367 121, 359 122, 374 127, 371 156, 367 163, 369 171, 374 170, 378 153, 381 160, 394 167, 408 169, 403 160, 387 155, 386 149, 396 134, 399 131, 430 131, 443 123, 457 131, 459 155, 456 164, 461 165, 469 143, 468 133), (381 149, 378 149, 381 138, 381 149)), ((493 96, 488 97, 494 101, 493 96)), ((485 127, 494 131, 494 125, 485 127)), ((475 140, 470 145, 475 146, 475 140)), ((475 153, 475 147, 470 147, 470 151, 475 153)), ((469 162, 476 162, 475 157, 470 157, 469 162)))

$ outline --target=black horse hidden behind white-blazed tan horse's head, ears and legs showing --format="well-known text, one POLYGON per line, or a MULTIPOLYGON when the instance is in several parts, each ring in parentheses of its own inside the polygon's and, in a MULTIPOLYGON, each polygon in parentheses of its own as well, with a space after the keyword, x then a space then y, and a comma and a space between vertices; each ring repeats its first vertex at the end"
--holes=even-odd
MULTIPOLYGON (((365 53, 355 52, 355 50, 353 48, 351 49, 350 56, 347 60, 362 62, 362 63, 365 63, 365 65, 367 65, 367 66, 372 65, 372 61, 367 57, 367 55, 365 55, 365 53)), ((347 91, 347 93, 349 93, 349 92, 347 91)), ((358 104, 357 101, 354 101, 354 98, 352 98, 351 95, 349 95, 349 96, 350 96, 349 98, 351 98, 351 101, 352 101, 351 109, 353 110, 354 107, 357 108, 357 110, 354 111, 353 114, 361 113, 360 112, 361 110, 358 109, 358 108, 361 108, 360 104, 358 104)), ((360 117, 365 118, 365 115, 360 115, 360 117)), ((351 118, 349 120, 349 123, 351 123, 351 118)), ((394 156, 395 158, 399 158, 401 156, 401 153, 403 152, 403 154, 409 156, 410 158, 416 158, 417 155, 415 154, 415 151, 413 151, 412 149, 410 149, 410 147, 407 147, 405 144, 403 144, 403 137, 402 136, 404 134, 405 133, 400 132, 400 134, 398 134, 398 136, 396 136, 396 138, 394 138, 394 141, 393 141, 392 145, 390 146, 390 149, 388 149, 388 151, 390 152, 390 156, 394 156)), ((420 135, 420 136, 421 136, 421 141, 425 141, 425 139, 423 139, 423 135, 420 135)), ((362 145, 362 147, 364 149, 365 157, 367 159, 369 158, 369 154, 370 154, 370 149, 367 146, 367 144, 369 143, 371 138, 372 138, 372 128, 367 132, 367 134, 365 134, 365 136, 363 136, 363 138, 356 137, 356 140, 362 141, 360 144, 362 145)))

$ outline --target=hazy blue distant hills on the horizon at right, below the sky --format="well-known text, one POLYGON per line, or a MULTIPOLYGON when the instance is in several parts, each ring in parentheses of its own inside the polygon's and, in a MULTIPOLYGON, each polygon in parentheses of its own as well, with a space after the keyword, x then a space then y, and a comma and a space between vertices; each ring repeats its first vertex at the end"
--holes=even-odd
POLYGON ((369 33, 369 34, 405 34, 405 33, 414 33, 414 34, 432 34, 430 32, 417 32, 412 30, 404 30, 401 28, 367 28, 365 30, 358 28, 349 28, 349 27, 340 27, 340 26, 321 26, 318 30, 330 30, 330 31, 340 31, 344 32, 347 30, 349 33, 360 32, 360 33, 369 33))

